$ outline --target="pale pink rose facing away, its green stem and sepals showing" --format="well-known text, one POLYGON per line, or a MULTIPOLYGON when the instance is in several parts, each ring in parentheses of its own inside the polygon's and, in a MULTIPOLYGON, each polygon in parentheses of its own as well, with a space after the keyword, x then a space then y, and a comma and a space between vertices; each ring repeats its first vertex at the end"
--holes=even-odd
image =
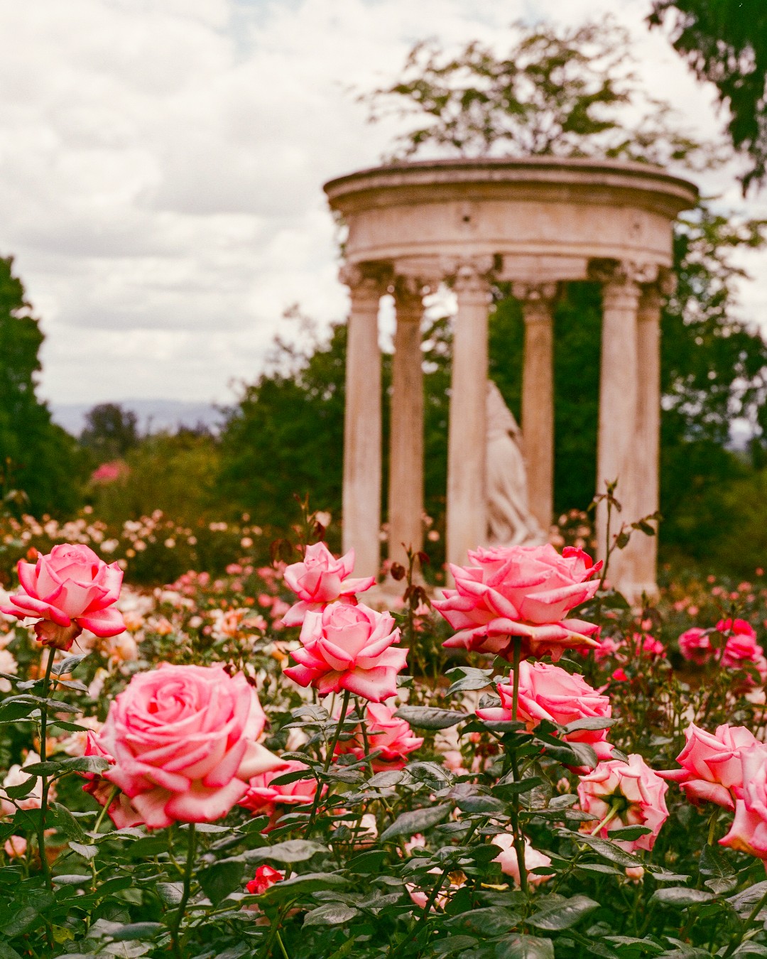
MULTIPOLYGON (((639 756, 632 753, 629 761, 610 760, 600 762, 593 773, 581 777, 578 784, 580 807, 591 812, 601 822, 617 807, 616 816, 601 830, 599 835, 607 839, 610 830, 621 826, 646 826, 651 832, 639 839, 616 840, 627 853, 637 849, 651 850, 658 838, 663 823, 668 818, 665 794, 668 785, 639 756)), ((584 829, 590 831, 592 824, 584 829)))

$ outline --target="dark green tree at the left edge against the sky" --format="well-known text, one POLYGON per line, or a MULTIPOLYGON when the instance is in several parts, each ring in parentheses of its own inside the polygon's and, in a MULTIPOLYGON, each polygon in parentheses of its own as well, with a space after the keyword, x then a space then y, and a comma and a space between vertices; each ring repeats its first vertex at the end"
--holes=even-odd
POLYGON ((0 257, 0 461, 5 492, 23 490, 28 508, 66 514, 79 498, 81 461, 74 439, 36 396, 43 341, 13 258, 0 257))

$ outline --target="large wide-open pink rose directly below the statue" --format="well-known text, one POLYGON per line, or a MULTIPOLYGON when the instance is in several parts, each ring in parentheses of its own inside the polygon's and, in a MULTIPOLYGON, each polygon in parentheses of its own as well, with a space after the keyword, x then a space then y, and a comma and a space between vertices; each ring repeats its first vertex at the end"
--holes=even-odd
POLYGON ((523 656, 559 659, 569 647, 595 646, 591 622, 568 619, 591 599, 601 568, 583 550, 552 546, 494 547, 470 551, 470 567, 451 565, 454 590, 434 607, 458 632, 445 645, 511 657, 522 637, 523 656))

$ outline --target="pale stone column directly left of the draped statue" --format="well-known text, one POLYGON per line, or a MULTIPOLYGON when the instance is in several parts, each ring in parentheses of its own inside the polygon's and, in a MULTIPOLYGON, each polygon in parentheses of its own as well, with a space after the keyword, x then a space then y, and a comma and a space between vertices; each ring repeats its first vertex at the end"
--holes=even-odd
POLYGON ((456 270, 453 283, 458 312, 448 433, 447 555, 459 566, 487 536, 487 273, 492 266, 492 258, 477 257, 456 270))

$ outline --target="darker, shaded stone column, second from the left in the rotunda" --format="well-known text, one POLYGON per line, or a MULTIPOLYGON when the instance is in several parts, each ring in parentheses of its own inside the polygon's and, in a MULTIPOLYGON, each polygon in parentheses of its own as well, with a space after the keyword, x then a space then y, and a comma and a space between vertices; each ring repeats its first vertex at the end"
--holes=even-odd
POLYGON ((397 328, 392 364, 389 456, 389 559, 407 564, 407 548, 423 545, 424 379, 421 284, 398 277, 394 285, 397 328))

